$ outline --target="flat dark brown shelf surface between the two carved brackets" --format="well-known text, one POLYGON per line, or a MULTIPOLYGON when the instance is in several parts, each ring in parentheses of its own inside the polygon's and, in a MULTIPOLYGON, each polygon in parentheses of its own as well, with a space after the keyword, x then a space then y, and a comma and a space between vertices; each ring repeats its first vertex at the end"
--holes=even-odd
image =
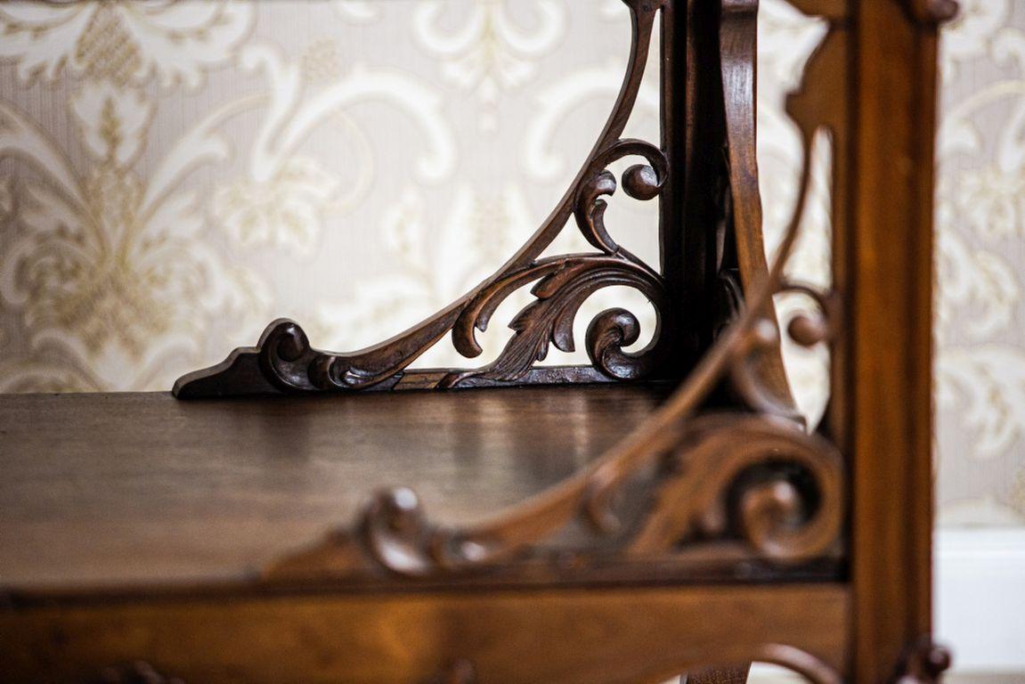
POLYGON ((383 486, 471 522, 573 474, 667 392, 0 396, 0 587, 249 576, 383 486))

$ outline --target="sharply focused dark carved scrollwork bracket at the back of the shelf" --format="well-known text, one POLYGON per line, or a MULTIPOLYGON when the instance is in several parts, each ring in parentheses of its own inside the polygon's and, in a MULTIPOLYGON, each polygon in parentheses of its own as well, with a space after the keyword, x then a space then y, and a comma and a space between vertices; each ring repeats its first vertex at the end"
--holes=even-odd
POLYGON ((359 352, 337 354, 314 349, 297 323, 273 322, 256 347, 235 350, 222 363, 182 376, 175 383, 180 399, 268 392, 345 392, 354 390, 454 388, 481 384, 550 383, 566 379, 612 381, 657 374, 665 350, 674 343, 662 276, 613 240, 605 226, 605 197, 619 183, 629 197, 658 197, 670 168, 665 153, 643 140, 623 138, 623 128, 637 100, 652 41, 652 29, 663 2, 623 0, 630 11, 632 38, 626 74, 612 113, 585 163, 548 218, 526 245, 495 275, 446 309, 395 337, 359 352), (617 182, 608 166, 638 158, 617 182), (596 252, 539 258, 567 223, 596 252), (498 306, 531 283, 535 301, 512 320, 514 335, 498 358, 477 369, 451 372, 406 371, 407 366, 451 331, 456 350, 476 358, 481 347, 475 330, 484 331, 498 306), (600 314, 586 335, 593 371, 537 372, 549 345, 575 349, 573 321, 590 294, 612 286, 641 291, 655 308, 659 323, 648 347, 636 354, 624 347, 637 341, 640 323, 621 309, 600 314))

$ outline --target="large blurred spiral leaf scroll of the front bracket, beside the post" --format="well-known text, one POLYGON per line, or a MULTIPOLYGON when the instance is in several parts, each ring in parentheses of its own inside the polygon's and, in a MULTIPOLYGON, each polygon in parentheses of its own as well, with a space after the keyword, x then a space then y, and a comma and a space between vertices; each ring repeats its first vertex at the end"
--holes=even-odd
POLYGON ((789 420, 696 418, 671 460, 680 475, 660 486, 631 542, 636 552, 671 550, 696 534, 734 535, 761 557, 794 563, 821 556, 838 536, 840 456, 789 420))

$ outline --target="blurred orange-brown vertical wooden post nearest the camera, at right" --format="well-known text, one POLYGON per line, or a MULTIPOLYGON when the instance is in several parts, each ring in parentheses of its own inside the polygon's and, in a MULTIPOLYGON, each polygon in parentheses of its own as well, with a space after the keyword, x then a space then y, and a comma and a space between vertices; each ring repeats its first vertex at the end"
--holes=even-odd
MULTIPOLYGON (((914 0, 854 2, 847 254, 853 672, 893 676, 931 631, 936 25, 914 0)), ((921 0, 918 4, 929 4, 921 0)))

